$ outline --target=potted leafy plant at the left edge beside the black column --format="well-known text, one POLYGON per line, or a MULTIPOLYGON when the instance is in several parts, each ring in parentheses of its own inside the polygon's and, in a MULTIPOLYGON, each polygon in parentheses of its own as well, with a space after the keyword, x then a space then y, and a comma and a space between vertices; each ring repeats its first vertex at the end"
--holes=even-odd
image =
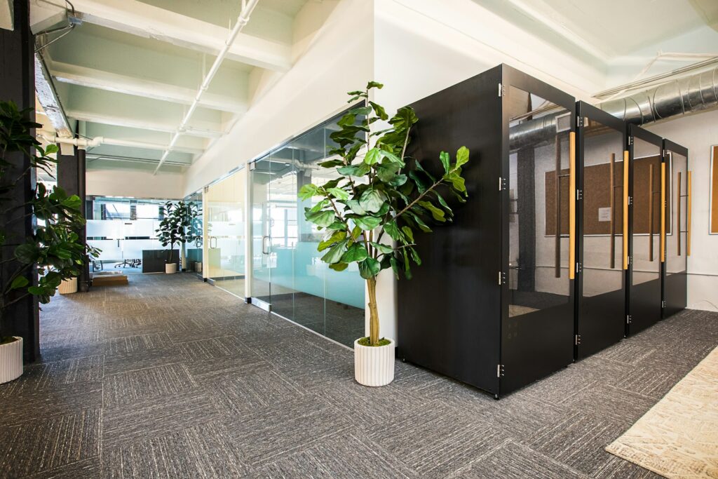
POLYGON ((27 203, 10 199, 11 191, 22 185, 32 168, 50 173, 55 163, 48 155, 57 152, 57 146, 43 149, 34 139, 32 129, 42 125, 27 119, 29 111, 19 111, 14 103, 0 101, 0 208, 4 213, 0 223, 0 264, 8 271, 0 281, 0 383, 22 374, 22 338, 11 335, 4 322, 9 308, 28 296, 36 296, 42 304, 50 302, 60 283, 77 277, 89 256, 99 253, 80 242, 77 231, 85 218, 77 195, 68 196, 60 187, 47 190, 37 183, 27 203), (17 154, 29 158, 29 168, 21 170, 13 163, 9 155, 17 154), (37 218, 37 227, 30 236, 14 236, 11 226, 24 221, 28 210, 37 218), (34 273, 37 279, 28 279, 34 273))

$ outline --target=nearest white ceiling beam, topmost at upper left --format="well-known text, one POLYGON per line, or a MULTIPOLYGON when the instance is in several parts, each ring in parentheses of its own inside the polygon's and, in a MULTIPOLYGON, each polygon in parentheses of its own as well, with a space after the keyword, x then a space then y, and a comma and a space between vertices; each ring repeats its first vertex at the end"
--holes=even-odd
MULTIPOLYGON (((73 0, 73 4, 83 22, 215 55, 225 46, 229 31, 137 0, 73 0)), ((269 70, 286 71, 292 66, 292 47, 241 33, 230 46, 227 57, 269 70)))

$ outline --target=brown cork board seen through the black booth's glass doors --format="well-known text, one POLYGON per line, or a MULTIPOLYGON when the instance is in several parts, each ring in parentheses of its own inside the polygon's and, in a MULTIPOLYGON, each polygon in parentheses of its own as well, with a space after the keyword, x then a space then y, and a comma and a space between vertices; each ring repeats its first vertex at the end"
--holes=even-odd
MULTIPOLYGON (((718 149, 718 147, 717 147, 718 149)), ((616 157, 616 160, 618 158, 616 157)), ((666 197, 671 197, 671 172, 666 171, 666 197)), ((584 167, 584 235, 609 235, 611 218, 613 233, 623 233, 623 158, 613 164, 613 192, 610 182, 610 162, 584 167), (613 208, 611 209, 611 195, 613 208)), ((559 172, 559 216, 561 236, 569 234, 569 170, 559 172)), ((633 233, 661 233, 661 157, 643 157, 633 160, 633 233), (651 176, 651 173, 653 175, 651 176), (652 194, 649 188, 653 190, 652 194), (652 202, 650 198, 653 197, 652 202), (652 204, 651 204, 652 203, 652 204)), ((546 172, 546 228, 545 236, 556 234, 556 172, 546 172)), ((718 180, 717 180, 718 183, 718 180)), ((666 202, 666 217, 671 218, 671 202, 666 202)), ((718 210, 718 205, 716 207, 718 210)), ((670 221, 666 233, 671 233, 670 221)), ((717 222, 718 225, 718 222, 717 222)), ((718 231, 717 231, 718 233, 718 231)))

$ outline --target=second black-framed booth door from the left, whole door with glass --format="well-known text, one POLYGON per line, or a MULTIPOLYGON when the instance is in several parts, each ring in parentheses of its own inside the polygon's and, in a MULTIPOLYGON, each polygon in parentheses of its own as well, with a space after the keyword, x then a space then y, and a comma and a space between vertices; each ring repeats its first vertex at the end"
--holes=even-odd
POLYGON ((578 103, 577 358, 625 335, 623 152, 626 126, 605 111, 578 103))

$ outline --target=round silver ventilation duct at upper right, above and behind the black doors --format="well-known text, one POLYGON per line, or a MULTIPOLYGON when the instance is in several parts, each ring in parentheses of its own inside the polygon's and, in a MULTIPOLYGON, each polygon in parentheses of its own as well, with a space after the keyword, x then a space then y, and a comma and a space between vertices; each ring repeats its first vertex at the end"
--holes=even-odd
MULTIPOLYGON (((596 105, 627 123, 645 125, 653 121, 718 108, 718 67, 596 105)), ((563 113, 565 114, 565 113, 563 113)), ((509 130, 511 149, 538 145, 554 139, 561 131, 556 124, 561 113, 525 121, 509 130)))

